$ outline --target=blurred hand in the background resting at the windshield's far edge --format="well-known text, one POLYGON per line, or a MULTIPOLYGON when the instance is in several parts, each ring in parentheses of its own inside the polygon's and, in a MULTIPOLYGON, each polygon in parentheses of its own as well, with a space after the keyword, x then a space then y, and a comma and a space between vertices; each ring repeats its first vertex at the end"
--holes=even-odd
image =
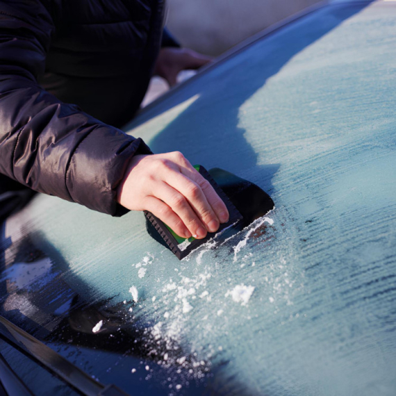
POLYGON ((172 87, 177 82, 177 75, 182 70, 199 69, 212 62, 213 58, 186 48, 165 47, 160 49, 154 74, 163 77, 172 87))

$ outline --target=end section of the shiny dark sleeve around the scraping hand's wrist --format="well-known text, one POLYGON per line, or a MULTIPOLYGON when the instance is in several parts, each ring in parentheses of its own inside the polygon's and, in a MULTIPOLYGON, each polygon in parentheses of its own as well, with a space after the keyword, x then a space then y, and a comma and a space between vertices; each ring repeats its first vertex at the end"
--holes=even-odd
POLYGON ((152 154, 142 139, 111 126, 97 126, 74 151, 66 186, 74 202, 116 216, 126 213, 117 204, 117 186, 135 154, 152 154))

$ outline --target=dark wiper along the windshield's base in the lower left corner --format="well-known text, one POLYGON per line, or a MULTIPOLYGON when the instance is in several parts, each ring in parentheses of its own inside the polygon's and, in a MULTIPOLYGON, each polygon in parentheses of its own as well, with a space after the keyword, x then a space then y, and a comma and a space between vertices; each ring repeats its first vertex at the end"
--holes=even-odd
MULTIPOLYGON (((0 315, 0 335, 6 338, 8 343, 21 349, 33 360, 38 361, 50 372, 63 379, 69 386, 79 393, 87 396, 128 396, 123 390, 115 385, 105 386, 103 383, 92 379, 86 372, 77 368, 66 358, 57 354, 26 331, 19 329, 5 317, 0 315)), ((20 393, 20 395, 23 395, 20 393)), ((29 395, 30 394, 26 394, 29 395)))

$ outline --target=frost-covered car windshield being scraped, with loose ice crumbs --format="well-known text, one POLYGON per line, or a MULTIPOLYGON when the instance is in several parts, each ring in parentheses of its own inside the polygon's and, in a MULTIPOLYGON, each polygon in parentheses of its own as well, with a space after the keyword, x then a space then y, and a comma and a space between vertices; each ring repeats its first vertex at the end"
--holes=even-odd
POLYGON ((396 6, 335 2, 126 127, 268 192, 179 261, 142 213, 38 195, 3 225, 1 315, 133 395, 395 395, 396 6))

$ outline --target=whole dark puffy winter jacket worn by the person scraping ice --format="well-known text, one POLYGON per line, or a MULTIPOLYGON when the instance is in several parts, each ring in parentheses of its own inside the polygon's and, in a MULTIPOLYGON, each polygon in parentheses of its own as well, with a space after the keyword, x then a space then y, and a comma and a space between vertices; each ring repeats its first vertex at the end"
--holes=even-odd
POLYGON ((150 151, 108 124, 138 109, 162 21, 162 0, 0 0, 0 173, 117 215, 129 159, 150 151))

